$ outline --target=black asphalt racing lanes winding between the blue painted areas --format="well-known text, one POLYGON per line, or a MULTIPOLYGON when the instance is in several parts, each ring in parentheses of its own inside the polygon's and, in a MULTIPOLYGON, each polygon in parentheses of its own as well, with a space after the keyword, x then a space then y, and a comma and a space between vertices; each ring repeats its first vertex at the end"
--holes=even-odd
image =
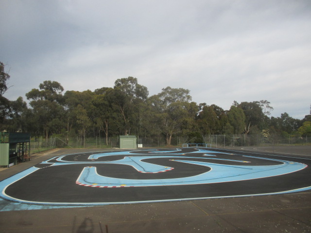
MULTIPOLYGON (((182 149, 182 152, 192 152, 195 149, 182 149)), ((212 149, 215 150, 215 149, 212 149)), ((125 150, 126 151, 126 150, 125 150)), ((228 152, 227 150, 216 151, 228 152)), ((141 155, 146 154, 140 150, 141 155)), ((36 202, 66 202, 66 203, 92 203, 92 202, 139 202, 139 201, 158 201, 158 200, 183 200, 195 198, 212 198, 212 197, 227 197, 227 196, 243 196, 257 195, 264 193, 276 193, 287 190, 294 190, 301 187, 311 186, 311 160, 300 158, 292 158, 287 156, 277 156, 250 153, 245 151, 230 151, 234 154, 217 154, 217 158, 230 160, 246 160, 241 155, 259 156, 260 159, 247 157, 247 161, 243 166, 266 166, 282 164, 278 161, 264 160, 265 158, 289 160, 308 165, 300 171, 285 174, 281 176, 272 176, 261 179, 223 182, 223 183, 205 183, 191 185, 166 185, 166 186, 147 186, 147 187, 125 187, 125 188, 93 188, 88 186, 77 185, 75 182, 81 171, 86 166, 95 166, 89 164, 74 164, 62 166, 46 166, 38 164, 36 166, 45 166, 30 175, 18 180, 9 185, 5 194, 19 200, 36 201, 36 202)), ((92 153, 83 153, 79 155, 76 162, 89 161, 88 156, 92 153)), ((151 156, 164 156, 170 153, 153 153, 151 156)), ((149 154, 148 154, 149 155, 149 154)), ((77 155, 74 155, 77 157, 77 155)), ((135 156, 135 155, 133 155, 135 156)), ((227 160, 213 160, 213 157, 208 159, 202 153, 186 154, 187 157, 195 157, 192 161, 204 161, 217 163, 222 165, 239 166, 241 163, 227 160), (197 159, 196 157, 202 157, 197 159)), ((66 156, 63 160, 74 161, 73 155, 66 156)), ((122 155, 101 157, 97 161, 113 161, 123 158, 122 155)), ((210 170, 207 166, 198 166, 186 163, 171 161, 172 158, 156 158, 147 159, 144 162, 154 163, 163 166, 172 166, 173 170, 163 173, 139 173, 132 166, 120 164, 96 164, 99 175, 123 178, 123 179, 173 179, 180 177, 193 177, 210 170)), ((181 159, 189 160, 189 158, 181 159)), ((49 162, 56 162, 49 160, 49 162)), ((60 163, 60 162, 58 162, 60 163)), ((228 167, 230 169, 230 167, 228 167)))

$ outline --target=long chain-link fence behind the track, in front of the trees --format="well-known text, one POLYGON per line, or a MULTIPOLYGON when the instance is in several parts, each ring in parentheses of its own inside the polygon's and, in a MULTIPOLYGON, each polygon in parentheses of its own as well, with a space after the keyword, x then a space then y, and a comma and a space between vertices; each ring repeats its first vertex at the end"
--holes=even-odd
MULTIPOLYGON (((50 150, 54 148, 119 148, 119 137, 109 137, 106 144, 106 138, 89 137, 85 140, 81 137, 31 137, 30 149, 32 153, 50 150)), ((184 143, 207 143, 213 148, 261 148, 261 147, 278 147, 278 146, 304 146, 311 145, 311 137, 280 137, 271 135, 262 137, 260 134, 234 134, 234 135, 206 135, 203 137, 179 137, 175 136, 171 140, 171 146, 182 147, 184 143)), ((144 148, 165 147, 166 139, 162 136, 155 137, 138 137, 137 144, 144 148)))

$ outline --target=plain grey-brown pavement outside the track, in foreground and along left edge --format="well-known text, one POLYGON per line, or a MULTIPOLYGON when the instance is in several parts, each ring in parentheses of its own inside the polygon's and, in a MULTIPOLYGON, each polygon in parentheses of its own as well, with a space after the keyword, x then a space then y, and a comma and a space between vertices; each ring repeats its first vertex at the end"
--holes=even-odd
MULTIPOLYGON (((72 152, 72 151, 71 151, 72 152)), ((0 171, 0 180, 65 154, 0 171)), ((0 212, 3 233, 310 233, 311 192, 244 198, 0 212)))

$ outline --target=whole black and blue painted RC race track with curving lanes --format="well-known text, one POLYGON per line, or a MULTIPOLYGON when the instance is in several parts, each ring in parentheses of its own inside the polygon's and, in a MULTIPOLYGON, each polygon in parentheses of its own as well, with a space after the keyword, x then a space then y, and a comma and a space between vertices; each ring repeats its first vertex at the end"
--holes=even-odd
POLYGON ((103 205, 284 194, 311 189, 311 159, 220 149, 143 149, 55 156, 0 183, 1 198, 103 205))

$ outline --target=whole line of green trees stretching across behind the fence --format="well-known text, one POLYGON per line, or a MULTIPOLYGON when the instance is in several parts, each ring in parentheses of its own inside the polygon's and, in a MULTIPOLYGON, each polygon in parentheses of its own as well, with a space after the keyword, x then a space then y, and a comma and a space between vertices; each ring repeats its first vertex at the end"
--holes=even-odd
MULTIPOLYGON (((311 135, 311 115, 294 119, 286 112, 270 117, 273 107, 267 100, 234 101, 229 110, 191 100, 190 90, 162 89, 149 96, 137 78, 115 81, 114 87, 95 91, 66 91, 61 83, 44 81, 22 97, 8 100, 10 76, 0 63, 0 131, 28 132, 32 136, 61 135, 69 140, 79 136, 118 135, 163 136, 170 145, 174 136, 202 138, 210 134, 311 135)), ((310 112, 311 114, 311 112, 310 112)))

